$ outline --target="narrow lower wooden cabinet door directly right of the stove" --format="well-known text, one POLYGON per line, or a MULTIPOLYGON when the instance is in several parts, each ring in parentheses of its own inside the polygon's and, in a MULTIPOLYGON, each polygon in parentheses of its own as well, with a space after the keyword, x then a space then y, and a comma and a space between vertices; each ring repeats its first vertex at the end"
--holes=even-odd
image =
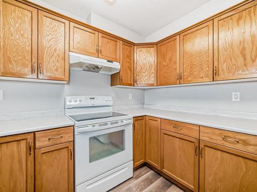
POLYGON ((145 162, 145 116, 133 118, 133 163, 134 167, 145 162))

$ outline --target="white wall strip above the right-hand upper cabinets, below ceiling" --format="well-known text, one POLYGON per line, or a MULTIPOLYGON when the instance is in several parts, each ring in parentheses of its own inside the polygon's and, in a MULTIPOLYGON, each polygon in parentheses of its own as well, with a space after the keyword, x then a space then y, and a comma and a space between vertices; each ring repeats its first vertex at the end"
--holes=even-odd
POLYGON ((164 37, 167 37, 173 33, 190 27, 201 20, 204 20, 212 15, 217 14, 225 9, 228 9, 242 0, 211 0, 206 4, 198 7, 197 9, 191 11, 185 16, 175 20, 171 24, 159 29, 158 31, 152 33, 145 37, 145 42, 155 42, 164 37))

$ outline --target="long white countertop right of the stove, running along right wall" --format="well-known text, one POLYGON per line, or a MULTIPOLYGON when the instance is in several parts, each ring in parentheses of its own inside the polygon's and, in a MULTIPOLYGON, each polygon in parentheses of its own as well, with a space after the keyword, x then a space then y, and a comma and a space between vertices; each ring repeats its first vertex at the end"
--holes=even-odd
POLYGON ((138 116, 153 116, 174 121, 181 121, 203 126, 210 126, 217 129, 246 133, 257 136, 257 119, 245 119, 225 117, 218 115, 205 115, 188 112, 177 112, 169 110, 158 110, 151 108, 138 108, 129 110, 116 110, 120 113, 138 116))

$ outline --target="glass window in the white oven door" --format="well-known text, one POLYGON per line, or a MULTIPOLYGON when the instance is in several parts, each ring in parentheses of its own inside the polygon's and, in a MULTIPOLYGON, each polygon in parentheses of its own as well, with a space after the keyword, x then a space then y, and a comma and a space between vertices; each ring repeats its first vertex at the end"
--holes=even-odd
POLYGON ((124 130, 89 137, 89 163, 125 150, 124 130))

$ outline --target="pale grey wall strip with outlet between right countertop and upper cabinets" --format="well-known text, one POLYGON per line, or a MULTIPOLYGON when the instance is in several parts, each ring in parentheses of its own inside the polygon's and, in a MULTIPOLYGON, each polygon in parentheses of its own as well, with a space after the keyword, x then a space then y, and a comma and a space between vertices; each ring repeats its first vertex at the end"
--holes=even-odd
POLYGON ((257 81, 160 88, 145 91, 145 104, 257 113, 257 81), (240 92, 240 101, 232 101, 240 92))

